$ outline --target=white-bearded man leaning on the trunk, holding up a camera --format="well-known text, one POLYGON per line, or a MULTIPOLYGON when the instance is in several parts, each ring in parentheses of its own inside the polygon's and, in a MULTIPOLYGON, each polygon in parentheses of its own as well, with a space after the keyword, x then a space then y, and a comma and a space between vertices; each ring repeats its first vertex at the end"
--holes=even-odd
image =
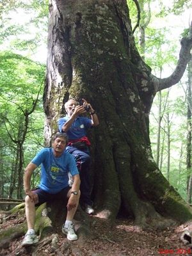
POLYGON ((68 136, 67 152, 72 154, 77 163, 77 168, 81 177, 81 198, 80 204, 88 214, 93 214, 93 202, 90 198, 90 141, 86 133, 93 126, 99 125, 99 120, 91 104, 82 99, 83 104, 75 99, 70 99, 65 103, 67 115, 58 120, 60 132, 66 132, 68 136), (91 118, 81 116, 90 113, 91 118))

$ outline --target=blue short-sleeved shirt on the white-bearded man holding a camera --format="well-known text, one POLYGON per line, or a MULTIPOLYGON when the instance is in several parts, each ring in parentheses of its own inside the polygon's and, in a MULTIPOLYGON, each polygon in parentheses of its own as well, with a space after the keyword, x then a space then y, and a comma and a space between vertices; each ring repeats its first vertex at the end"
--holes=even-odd
MULTIPOLYGON (((58 120, 58 127, 60 132, 62 132, 62 127, 65 122, 69 119, 68 116, 60 118, 58 120)), ((92 127, 92 119, 84 116, 77 116, 77 118, 72 123, 70 129, 67 131, 68 140, 77 140, 86 136, 87 130, 92 127)))

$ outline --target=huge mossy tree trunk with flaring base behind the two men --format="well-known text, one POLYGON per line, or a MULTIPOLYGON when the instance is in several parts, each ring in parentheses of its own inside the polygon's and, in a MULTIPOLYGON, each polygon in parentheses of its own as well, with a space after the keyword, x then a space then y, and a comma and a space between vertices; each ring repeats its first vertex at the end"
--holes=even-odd
POLYGON ((154 86, 134 44, 126 1, 52 0, 49 10, 47 145, 65 100, 87 99, 100 119, 91 134, 97 211, 107 218, 124 211, 143 226, 147 217, 159 225, 159 214, 189 220, 191 209, 152 157, 148 114, 156 91, 168 84, 154 86))

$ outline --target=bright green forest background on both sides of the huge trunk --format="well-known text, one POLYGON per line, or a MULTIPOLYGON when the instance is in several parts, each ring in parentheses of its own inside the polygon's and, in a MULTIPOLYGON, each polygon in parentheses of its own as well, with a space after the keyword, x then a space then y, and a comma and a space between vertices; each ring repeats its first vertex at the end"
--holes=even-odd
MULTIPOLYGON (((44 147, 43 93, 47 52, 48 1, 0 3, 0 197, 24 198, 25 166, 44 147)), ((137 23, 129 1, 132 28, 137 23)), ((178 60, 180 39, 190 23, 189 1, 138 1, 136 45, 157 77, 167 77, 178 60), (145 44, 141 31, 145 30, 145 44)), ((163 175, 191 203, 192 65, 172 88, 158 92, 150 113, 153 156, 163 175), (176 88, 177 87, 177 88, 176 88)), ((32 186, 38 184, 40 170, 32 186)))

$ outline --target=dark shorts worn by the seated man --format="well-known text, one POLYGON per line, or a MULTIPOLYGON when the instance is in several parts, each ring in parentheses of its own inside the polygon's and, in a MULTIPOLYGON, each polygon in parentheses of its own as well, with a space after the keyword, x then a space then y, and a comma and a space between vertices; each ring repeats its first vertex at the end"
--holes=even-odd
POLYGON ((44 191, 43 189, 37 188, 33 190, 33 193, 36 193, 38 195, 38 204, 36 205, 41 205, 44 204, 45 202, 53 202, 55 200, 66 200, 67 199, 67 193, 71 189, 71 187, 63 188, 60 192, 56 194, 50 194, 44 191))

